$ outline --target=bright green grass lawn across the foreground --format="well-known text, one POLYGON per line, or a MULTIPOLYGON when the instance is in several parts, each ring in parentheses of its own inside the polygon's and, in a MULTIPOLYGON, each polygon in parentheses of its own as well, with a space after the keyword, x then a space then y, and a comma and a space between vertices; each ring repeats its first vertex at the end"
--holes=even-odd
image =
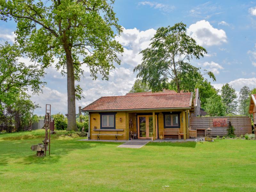
POLYGON ((58 131, 51 156, 36 157, 43 134, 0 134, 0 191, 256 191, 256 140, 129 149, 58 131))

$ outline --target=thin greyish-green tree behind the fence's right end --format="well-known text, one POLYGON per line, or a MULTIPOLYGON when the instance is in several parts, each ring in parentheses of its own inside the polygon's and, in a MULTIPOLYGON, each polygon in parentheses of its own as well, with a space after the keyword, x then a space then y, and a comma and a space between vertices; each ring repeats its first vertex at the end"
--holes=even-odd
POLYGON ((250 93, 251 90, 249 87, 244 86, 241 88, 240 92, 239 92, 239 113, 241 115, 249 115, 248 111, 249 111, 249 104, 250 104, 250 93))

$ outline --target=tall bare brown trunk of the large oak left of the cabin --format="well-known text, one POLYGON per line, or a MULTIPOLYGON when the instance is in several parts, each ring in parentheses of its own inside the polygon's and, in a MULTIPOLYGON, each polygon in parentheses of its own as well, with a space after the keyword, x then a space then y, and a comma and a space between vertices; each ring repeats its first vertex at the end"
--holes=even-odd
POLYGON ((76 126, 76 95, 75 95, 75 76, 72 54, 66 51, 67 58, 67 88, 68 88, 68 128, 67 131, 77 131, 76 126))

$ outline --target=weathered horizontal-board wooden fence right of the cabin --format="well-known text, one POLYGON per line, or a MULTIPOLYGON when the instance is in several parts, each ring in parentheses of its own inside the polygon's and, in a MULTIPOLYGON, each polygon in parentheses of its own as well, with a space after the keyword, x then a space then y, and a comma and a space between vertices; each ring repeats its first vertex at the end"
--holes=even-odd
MULTIPOLYGON (((246 116, 221 116, 221 117, 191 117, 191 129, 207 129, 211 128, 211 136, 225 136, 228 134, 228 127, 213 127, 213 118, 228 118, 231 125, 235 128, 236 136, 252 133, 252 124, 250 117, 246 116)), ((207 135, 207 131, 206 131, 207 135)))

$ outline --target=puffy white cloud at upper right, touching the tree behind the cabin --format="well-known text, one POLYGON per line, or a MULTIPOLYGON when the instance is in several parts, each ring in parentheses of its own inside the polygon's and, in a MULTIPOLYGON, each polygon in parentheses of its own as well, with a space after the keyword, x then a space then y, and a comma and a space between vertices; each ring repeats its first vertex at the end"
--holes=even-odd
POLYGON ((213 28, 209 21, 206 20, 197 21, 195 24, 190 25, 187 33, 202 46, 220 45, 227 42, 225 31, 213 28))

